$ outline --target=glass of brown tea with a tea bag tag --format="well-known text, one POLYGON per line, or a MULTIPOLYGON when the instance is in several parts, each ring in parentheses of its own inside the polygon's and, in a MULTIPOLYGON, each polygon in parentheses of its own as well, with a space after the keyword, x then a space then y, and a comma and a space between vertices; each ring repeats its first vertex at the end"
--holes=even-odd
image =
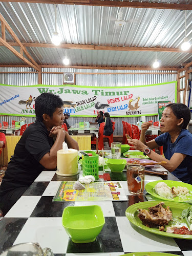
POLYGON ((133 195, 141 195, 144 190, 144 167, 140 164, 126 166, 126 179, 128 189, 133 195))

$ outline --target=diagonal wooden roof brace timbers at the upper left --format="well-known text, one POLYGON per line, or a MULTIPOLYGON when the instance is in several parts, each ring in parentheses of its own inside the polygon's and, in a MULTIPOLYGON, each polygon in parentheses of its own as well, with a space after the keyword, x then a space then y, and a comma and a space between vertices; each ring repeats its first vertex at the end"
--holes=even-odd
POLYGON ((2 14, 0 13, 0 21, 3 25, 2 27, 2 38, 0 38, 0 42, 6 46, 10 51, 12 51, 17 57, 19 57, 20 59, 23 59, 26 62, 26 58, 23 57, 23 52, 25 53, 25 55, 30 59, 27 60, 29 65, 33 65, 33 68, 39 71, 39 66, 38 64, 35 62, 35 60, 31 57, 31 55, 28 53, 27 49, 25 48, 25 46, 23 46, 22 42, 20 42, 20 40, 18 39, 18 37, 16 36, 16 34, 14 33, 14 31, 12 30, 12 28, 9 26, 9 24, 6 22, 5 18, 2 16, 2 14), (10 35, 13 37, 13 39, 17 42, 18 46, 20 47, 20 54, 18 55, 17 51, 10 46, 7 42, 6 42, 6 38, 5 38, 5 28, 7 29, 7 31, 10 33, 10 35), (31 63, 32 62, 32 63, 31 63))

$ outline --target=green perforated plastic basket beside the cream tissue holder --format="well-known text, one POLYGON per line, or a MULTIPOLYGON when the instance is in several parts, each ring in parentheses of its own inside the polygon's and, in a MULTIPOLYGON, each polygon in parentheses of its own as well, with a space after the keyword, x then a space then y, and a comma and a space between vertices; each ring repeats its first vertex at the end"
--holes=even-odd
POLYGON ((91 153, 92 157, 82 155, 82 175, 93 175, 95 180, 99 179, 99 155, 94 151, 84 151, 85 153, 91 153))

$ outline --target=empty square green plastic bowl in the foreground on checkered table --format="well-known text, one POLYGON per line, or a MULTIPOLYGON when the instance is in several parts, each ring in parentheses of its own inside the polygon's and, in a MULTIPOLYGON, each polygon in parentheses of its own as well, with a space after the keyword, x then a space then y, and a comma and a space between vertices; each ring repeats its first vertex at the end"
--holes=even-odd
POLYGON ((95 241, 105 223, 98 205, 68 206, 62 213, 62 225, 74 243, 95 241))

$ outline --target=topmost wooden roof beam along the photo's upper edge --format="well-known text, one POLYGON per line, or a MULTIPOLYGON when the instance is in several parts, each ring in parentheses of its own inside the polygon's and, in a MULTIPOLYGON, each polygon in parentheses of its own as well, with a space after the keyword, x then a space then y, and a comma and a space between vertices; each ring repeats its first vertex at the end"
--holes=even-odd
MULTIPOLYGON (((26 0, 1 0, 1 2, 23 2, 26 0)), ((100 1, 100 0, 27 0, 28 3, 41 4, 66 4, 66 5, 90 5, 90 6, 111 6, 111 7, 131 7, 169 10, 192 10, 192 5, 188 4, 164 4, 164 3, 144 3, 129 1, 100 1)))

